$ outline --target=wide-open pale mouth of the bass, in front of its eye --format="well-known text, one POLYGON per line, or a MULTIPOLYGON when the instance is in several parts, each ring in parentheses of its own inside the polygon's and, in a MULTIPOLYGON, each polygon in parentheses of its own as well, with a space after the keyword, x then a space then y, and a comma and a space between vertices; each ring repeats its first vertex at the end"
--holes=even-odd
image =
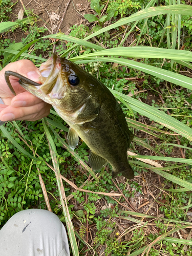
POLYGON ((39 81, 42 84, 34 86, 32 84, 19 80, 19 84, 38 98, 52 104, 53 99, 65 97, 67 91, 67 77, 62 70, 61 59, 53 53, 52 56, 39 68, 41 76, 39 81))

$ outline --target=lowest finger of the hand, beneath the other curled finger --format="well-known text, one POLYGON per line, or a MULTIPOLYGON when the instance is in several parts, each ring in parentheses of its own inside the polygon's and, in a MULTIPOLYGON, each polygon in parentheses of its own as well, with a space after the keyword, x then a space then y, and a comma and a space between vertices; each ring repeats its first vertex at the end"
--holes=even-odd
POLYGON ((8 106, 0 113, 0 120, 10 121, 10 120, 38 120, 41 116, 47 116, 51 109, 51 105, 41 101, 33 106, 24 106, 20 108, 14 108, 13 106, 8 106), (29 117, 30 119, 26 119, 29 117))

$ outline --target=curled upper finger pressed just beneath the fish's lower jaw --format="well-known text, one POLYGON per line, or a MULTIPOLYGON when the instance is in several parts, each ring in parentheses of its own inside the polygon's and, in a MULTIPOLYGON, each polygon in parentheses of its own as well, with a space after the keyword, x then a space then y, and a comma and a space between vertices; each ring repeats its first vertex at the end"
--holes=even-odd
POLYGON ((12 99, 11 105, 14 108, 18 108, 20 106, 33 106, 40 102, 42 102, 41 99, 39 99, 39 98, 35 97, 34 95, 32 95, 31 93, 25 91, 24 93, 19 93, 18 95, 16 95, 12 99))

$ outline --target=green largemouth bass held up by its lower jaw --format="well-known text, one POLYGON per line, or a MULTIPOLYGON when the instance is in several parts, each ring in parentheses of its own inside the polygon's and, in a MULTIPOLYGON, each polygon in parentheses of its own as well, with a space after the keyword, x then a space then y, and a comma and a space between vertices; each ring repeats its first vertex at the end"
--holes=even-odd
MULTIPOLYGON (((52 104, 59 116, 69 124, 69 146, 74 150, 80 137, 91 150, 89 162, 94 171, 110 163, 113 179, 119 173, 133 179, 127 150, 134 135, 110 90, 74 62, 56 54, 42 63, 39 71, 42 84, 30 82, 21 75, 19 84, 52 104)), ((6 81, 11 74, 8 71, 6 81)))

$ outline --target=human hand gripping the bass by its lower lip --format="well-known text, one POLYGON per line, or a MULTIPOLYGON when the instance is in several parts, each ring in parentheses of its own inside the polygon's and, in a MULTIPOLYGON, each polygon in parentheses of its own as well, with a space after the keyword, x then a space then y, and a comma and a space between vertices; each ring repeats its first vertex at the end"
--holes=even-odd
POLYGON ((5 71, 11 70, 39 83, 40 72, 32 61, 23 59, 8 64, 0 71, 0 98, 4 104, 0 104, 0 120, 28 120, 36 121, 49 115, 51 105, 27 92, 18 83, 18 78, 10 76, 10 82, 16 93, 12 94, 5 81, 5 71))

